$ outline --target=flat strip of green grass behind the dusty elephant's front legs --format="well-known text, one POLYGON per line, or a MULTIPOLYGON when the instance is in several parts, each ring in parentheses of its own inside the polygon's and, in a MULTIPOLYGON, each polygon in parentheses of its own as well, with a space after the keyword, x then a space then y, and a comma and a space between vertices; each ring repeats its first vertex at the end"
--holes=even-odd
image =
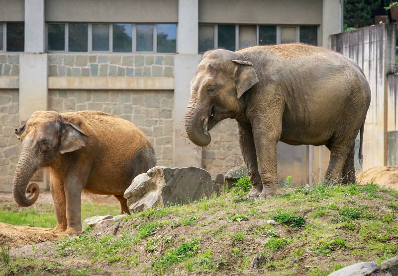
MULTIPOLYGON (((12 225, 27 225, 32 227, 55 227, 57 225, 57 217, 55 208, 52 205, 38 205, 26 208, 14 209, 8 208, 9 204, 0 204, 0 222, 12 225)), ((88 217, 94 215, 117 215, 120 207, 82 204, 82 222, 88 217)))

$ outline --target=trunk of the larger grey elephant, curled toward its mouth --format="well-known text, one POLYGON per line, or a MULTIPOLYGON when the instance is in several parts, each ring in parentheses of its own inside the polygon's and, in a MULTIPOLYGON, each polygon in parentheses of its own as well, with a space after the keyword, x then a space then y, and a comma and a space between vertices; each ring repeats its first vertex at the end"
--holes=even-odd
POLYGON ((211 136, 207 130, 204 130, 204 120, 208 112, 200 108, 197 104, 190 102, 184 118, 185 131, 188 138, 198 146, 206 146, 211 141, 211 136))

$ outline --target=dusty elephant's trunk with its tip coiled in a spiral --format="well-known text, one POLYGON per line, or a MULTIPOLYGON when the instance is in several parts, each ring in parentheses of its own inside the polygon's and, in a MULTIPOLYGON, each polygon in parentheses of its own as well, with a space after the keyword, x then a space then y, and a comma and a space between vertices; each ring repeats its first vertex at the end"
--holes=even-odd
POLYGON ((19 206, 31 206, 39 197, 39 186, 36 183, 31 183, 28 186, 30 178, 38 167, 39 162, 29 154, 28 150, 23 150, 19 156, 12 182, 12 195, 19 206))

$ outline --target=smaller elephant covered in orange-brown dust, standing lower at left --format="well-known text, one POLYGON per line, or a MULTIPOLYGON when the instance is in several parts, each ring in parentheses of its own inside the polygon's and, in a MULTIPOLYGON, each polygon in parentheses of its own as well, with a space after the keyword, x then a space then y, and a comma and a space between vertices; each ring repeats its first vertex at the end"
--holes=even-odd
POLYGON ((12 184, 15 202, 34 204, 39 186, 29 180, 38 168, 49 168, 55 230, 68 235, 82 231, 83 190, 114 195, 121 213, 130 213, 124 191, 135 176, 156 166, 155 151, 142 131, 103 112, 36 111, 15 135, 21 141, 12 184))

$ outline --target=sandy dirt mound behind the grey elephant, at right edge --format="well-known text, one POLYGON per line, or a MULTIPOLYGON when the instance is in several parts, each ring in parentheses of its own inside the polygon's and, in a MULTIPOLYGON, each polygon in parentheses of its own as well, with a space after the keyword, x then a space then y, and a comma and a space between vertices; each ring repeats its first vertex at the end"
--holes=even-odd
POLYGON ((357 175, 360 183, 377 183, 398 190, 398 166, 375 167, 357 175))

